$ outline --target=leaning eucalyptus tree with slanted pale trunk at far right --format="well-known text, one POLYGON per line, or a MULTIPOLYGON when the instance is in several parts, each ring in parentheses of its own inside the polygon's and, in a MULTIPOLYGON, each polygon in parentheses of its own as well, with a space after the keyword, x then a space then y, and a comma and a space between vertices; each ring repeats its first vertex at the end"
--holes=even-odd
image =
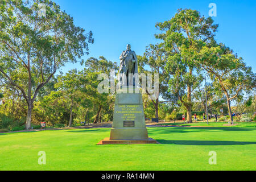
POLYGON ((205 45, 197 55, 198 65, 209 73, 213 85, 226 97, 230 121, 233 123, 230 103, 256 87, 256 75, 246 67, 242 57, 224 44, 205 45))

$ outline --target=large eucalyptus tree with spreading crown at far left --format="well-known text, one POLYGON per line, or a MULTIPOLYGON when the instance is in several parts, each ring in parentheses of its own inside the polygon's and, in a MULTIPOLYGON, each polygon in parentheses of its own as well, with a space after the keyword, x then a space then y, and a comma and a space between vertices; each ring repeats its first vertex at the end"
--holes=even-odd
POLYGON ((28 106, 26 129, 30 129, 39 90, 65 63, 88 54, 92 32, 85 34, 50 0, 0 1, 0 28, 0 74, 22 92, 28 106))

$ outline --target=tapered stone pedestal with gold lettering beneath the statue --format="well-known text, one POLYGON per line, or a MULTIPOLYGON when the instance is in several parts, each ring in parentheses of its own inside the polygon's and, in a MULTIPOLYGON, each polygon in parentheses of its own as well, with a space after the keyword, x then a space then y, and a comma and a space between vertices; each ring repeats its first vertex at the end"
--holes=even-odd
POLYGON ((110 138, 98 144, 158 143, 148 138, 141 93, 117 93, 110 138))

